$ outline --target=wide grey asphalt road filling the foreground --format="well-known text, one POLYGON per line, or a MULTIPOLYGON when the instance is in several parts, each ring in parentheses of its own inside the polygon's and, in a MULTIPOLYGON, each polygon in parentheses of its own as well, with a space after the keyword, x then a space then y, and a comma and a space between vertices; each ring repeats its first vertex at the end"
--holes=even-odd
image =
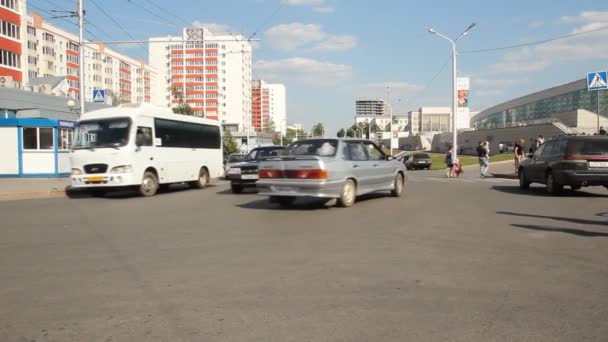
POLYGON ((606 341, 608 191, 0 202, 0 341, 606 341))

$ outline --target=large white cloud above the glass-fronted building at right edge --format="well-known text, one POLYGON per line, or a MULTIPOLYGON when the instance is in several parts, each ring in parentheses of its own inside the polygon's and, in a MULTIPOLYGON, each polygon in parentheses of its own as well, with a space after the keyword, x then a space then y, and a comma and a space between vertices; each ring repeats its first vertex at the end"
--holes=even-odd
MULTIPOLYGON (((571 33, 581 33, 608 27, 608 11, 581 12, 576 16, 561 18, 564 24, 577 24, 571 33)), ((608 30, 596 31, 545 44, 524 47, 509 52, 489 69, 495 73, 532 72, 556 64, 602 60, 608 55, 608 45, 598 42, 608 40, 608 30)))

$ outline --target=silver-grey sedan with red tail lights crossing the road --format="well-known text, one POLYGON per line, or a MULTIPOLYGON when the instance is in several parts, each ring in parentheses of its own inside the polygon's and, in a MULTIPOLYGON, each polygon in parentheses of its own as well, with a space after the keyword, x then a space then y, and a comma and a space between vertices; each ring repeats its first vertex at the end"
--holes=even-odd
POLYGON ((289 145, 280 158, 260 163, 260 195, 286 207, 298 197, 337 199, 350 207, 359 195, 390 191, 400 197, 405 165, 369 140, 311 139, 289 145))

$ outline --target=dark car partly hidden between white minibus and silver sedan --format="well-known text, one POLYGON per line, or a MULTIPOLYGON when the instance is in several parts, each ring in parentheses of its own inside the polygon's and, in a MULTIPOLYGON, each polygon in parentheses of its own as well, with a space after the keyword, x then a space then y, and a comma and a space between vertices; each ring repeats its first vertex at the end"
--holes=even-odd
POLYGON ((231 166, 226 171, 226 180, 230 181, 230 189, 233 194, 240 194, 246 187, 255 187, 258 181, 258 166, 267 158, 278 157, 283 151, 283 146, 265 146, 254 148, 245 157, 242 163, 231 166))

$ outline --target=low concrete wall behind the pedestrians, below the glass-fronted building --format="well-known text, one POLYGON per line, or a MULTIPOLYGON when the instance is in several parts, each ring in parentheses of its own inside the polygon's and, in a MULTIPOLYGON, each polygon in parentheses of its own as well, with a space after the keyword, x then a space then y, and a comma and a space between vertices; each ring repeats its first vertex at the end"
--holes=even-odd
MULTIPOLYGON (((565 134, 553 124, 529 125, 519 127, 506 127, 478 131, 466 131, 458 134, 458 144, 463 149, 465 155, 476 155, 477 144, 481 140, 490 142, 490 154, 498 152, 498 144, 503 142, 506 146, 513 146, 518 139, 526 139, 526 151, 533 146, 538 135, 545 139, 565 134)), ((433 137, 431 150, 437 153, 444 153, 452 146, 452 133, 436 134, 433 137)))

